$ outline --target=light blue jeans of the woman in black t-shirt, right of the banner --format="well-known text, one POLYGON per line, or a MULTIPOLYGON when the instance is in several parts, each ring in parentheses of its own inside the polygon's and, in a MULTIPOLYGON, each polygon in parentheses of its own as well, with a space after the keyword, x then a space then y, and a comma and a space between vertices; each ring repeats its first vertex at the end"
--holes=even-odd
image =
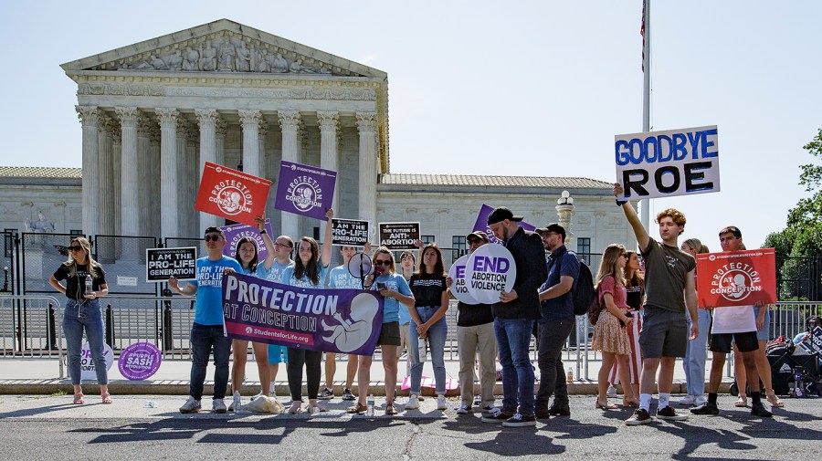
MULTIPOLYGON (((416 308, 416 312, 419 314, 419 319, 425 323, 428 319, 434 317, 434 313, 437 312, 438 309, 439 306, 416 308)), ((416 332, 416 327, 418 327, 418 325, 412 319, 408 327, 408 337, 411 344, 411 351, 409 351, 409 355, 411 356, 411 393, 419 393, 420 391, 424 364, 419 360, 419 334, 416 332)), ((446 323, 445 316, 442 316, 442 319, 437 320, 437 322, 431 325, 431 328, 426 331, 428 350, 431 351, 431 363, 434 365, 434 381, 437 382, 437 395, 445 395, 446 392, 446 336, 448 336, 448 324, 446 323)))

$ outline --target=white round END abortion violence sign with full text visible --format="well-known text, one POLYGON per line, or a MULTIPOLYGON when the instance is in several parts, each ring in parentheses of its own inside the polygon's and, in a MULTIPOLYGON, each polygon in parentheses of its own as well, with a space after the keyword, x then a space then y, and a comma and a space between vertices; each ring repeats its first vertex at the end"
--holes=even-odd
POLYGON ((517 266, 505 246, 480 246, 465 265, 465 286, 481 303, 500 302, 500 293, 511 291, 516 278, 517 266))

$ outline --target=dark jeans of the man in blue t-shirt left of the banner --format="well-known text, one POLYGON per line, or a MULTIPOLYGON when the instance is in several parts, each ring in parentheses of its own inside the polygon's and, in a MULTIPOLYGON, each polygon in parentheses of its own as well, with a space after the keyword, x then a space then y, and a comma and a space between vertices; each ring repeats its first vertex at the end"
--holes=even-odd
POLYGON ((203 397, 205 367, 214 349, 214 398, 226 398, 228 387, 228 356, 231 353, 231 338, 223 334, 222 325, 191 326, 191 383, 188 393, 196 400, 203 397))

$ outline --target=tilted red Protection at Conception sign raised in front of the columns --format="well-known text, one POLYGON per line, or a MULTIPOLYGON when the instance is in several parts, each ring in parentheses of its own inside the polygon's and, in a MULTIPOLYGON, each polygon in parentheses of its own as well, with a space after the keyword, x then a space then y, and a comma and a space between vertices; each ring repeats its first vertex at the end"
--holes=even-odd
POLYGON ((223 165, 205 162, 195 210, 237 223, 256 225, 266 208, 271 182, 223 165))

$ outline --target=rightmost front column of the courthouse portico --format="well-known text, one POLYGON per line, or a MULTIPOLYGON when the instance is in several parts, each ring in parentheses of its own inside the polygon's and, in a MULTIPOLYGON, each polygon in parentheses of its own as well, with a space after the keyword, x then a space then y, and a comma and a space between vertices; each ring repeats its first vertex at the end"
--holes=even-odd
POLYGON ((357 112, 356 117, 360 131, 360 219, 376 228, 376 113, 357 112))

